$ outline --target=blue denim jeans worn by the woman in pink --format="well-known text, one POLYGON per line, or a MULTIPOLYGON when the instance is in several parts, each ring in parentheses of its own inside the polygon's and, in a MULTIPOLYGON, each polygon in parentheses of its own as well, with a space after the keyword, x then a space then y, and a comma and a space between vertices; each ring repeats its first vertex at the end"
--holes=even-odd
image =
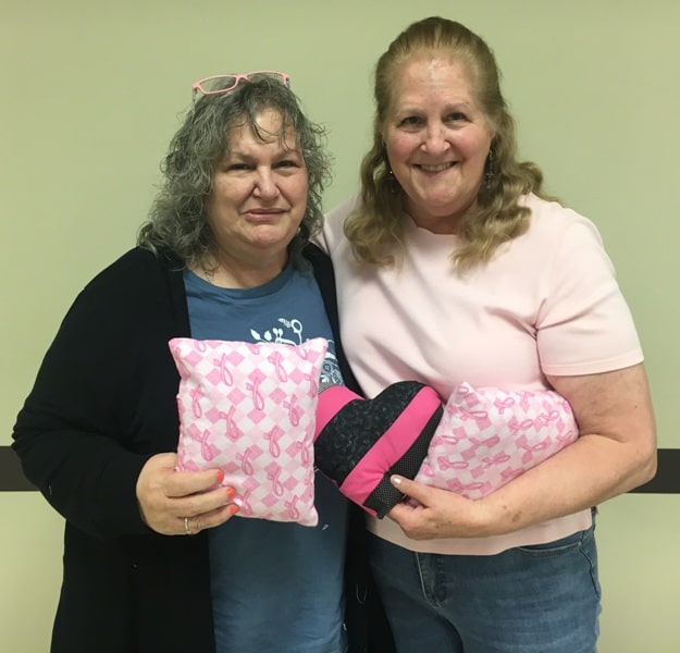
POLYGON ((370 535, 398 653, 593 653, 594 528, 490 556, 413 553, 370 535))

